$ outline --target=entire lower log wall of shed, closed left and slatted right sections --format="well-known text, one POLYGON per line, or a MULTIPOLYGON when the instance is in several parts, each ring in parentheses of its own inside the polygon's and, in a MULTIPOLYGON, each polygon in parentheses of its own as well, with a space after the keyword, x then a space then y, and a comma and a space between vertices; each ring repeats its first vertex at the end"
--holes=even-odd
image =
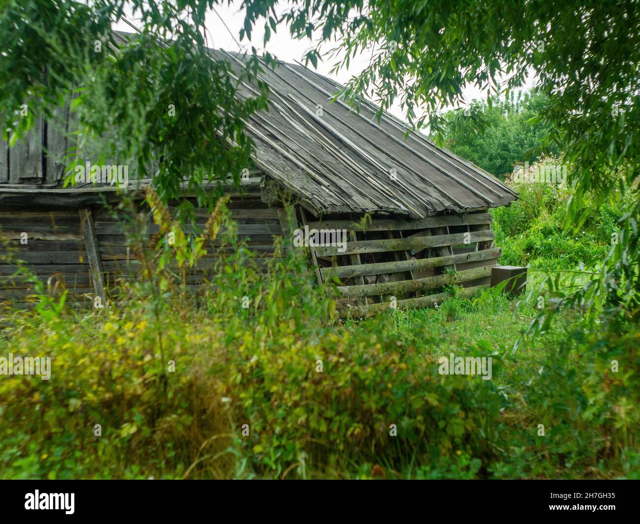
MULTIPOLYGON (((229 208, 239 238, 260 257, 272 256, 275 237, 284 235, 284 210, 269 207, 258 196, 235 198, 229 208)), ((33 303, 33 284, 24 276, 13 276, 15 266, 8 264, 8 256, 24 260, 52 294, 67 289, 74 307, 91 307, 96 296, 103 301, 117 299, 122 284, 140 275, 132 239, 149 244, 158 231, 142 201, 137 209, 128 214, 95 204, 38 210, 0 204, 6 239, 0 245, 0 303, 11 301, 24 307, 33 303)), ((175 210, 170 206, 171 212, 175 210)), ((208 216, 206 210, 196 210, 196 225, 202 228, 208 216)), ((320 282, 339 280, 343 315, 374 314, 394 298, 400 307, 433 305, 442 300, 449 284, 470 291, 488 286, 491 269, 498 265, 500 249, 493 243, 487 212, 413 220, 379 216, 364 229, 359 218, 335 215, 318 220, 301 207, 296 209, 300 228, 307 225, 310 230, 346 230, 348 234, 343 252, 338 246, 308 248, 314 269, 310 275, 320 282)), ((207 255, 189 271, 190 290, 198 290, 212 276, 219 249, 220 241, 208 246, 207 255)))

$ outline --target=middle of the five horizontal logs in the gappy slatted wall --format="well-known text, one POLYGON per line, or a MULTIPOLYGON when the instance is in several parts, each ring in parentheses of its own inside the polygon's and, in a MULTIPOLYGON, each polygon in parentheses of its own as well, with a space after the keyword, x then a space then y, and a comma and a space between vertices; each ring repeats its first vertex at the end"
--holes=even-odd
POLYGON ((449 255, 447 257, 416 258, 415 260, 401 260, 399 262, 376 262, 375 264, 359 264, 358 266, 323 267, 320 273, 323 278, 337 276, 338 278, 347 279, 369 274, 418 271, 420 269, 429 269, 430 267, 462 264, 463 262, 481 262, 483 260, 499 258, 501 254, 502 250, 500 248, 494 248, 491 250, 475 251, 474 253, 449 255))

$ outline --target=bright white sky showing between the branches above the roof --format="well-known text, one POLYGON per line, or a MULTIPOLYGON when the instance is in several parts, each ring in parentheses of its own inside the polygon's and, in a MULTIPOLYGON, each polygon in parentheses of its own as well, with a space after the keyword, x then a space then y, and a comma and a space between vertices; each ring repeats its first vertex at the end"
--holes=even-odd
MULTIPOLYGON (((303 40, 295 40, 292 38, 289 33, 289 29, 284 25, 278 26, 278 31, 273 33, 271 31, 271 38, 269 38, 269 42, 266 47, 263 45, 264 38, 264 30, 263 25, 254 28, 254 32, 252 33, 251 40, 247 40, 246 37, 244 40, 240 41, 239 33, 240 29, 243 28, 244 25, 244 11, 240 8, 241 3, 237 2, 236 4, 228 5, 219 5, 216 6, 216 12, 208 11, 206 15, 205 27, 207 28, 207 40, 209 47, 213 47, 216 49, 226 49, 227 51, 240 51, 237 42, 243 45, 244 49, 250 51, 251 47, 255 47, 259 54, 262 54, 263 51, 269 51, 271 54, 276 56, 279 60, 284 60, 288 62, 293 61, 303 61, 303 58, 307 51, 309 51, 312 47, 314 47, 314 42, 308 40, 307 38, 303 40), (222 20, 224 20, 224 23, 222 20), (225 24, 227 27, 225 27, 225 24), (227 29, 228 28, 228 29, 227 29)), ((135 23, 134 19, 130 19, 135 23)), ((129 27, 124 22, 120 24, 116 24, 114 29, 119 29, 121 31, 131 31, 131 27, 129 27)), ((333 45, 326 44, 325 51, 331 49, 333 45)), ((349 64, 349 69, 342 68, 338 72, 334 74, 330 74, 330 69, 335 64, 334 58, 325 58, 324 61, 319 61, 317 72, 327 77, 331 77, 333 80, 339 82, 340 84, 346 84, 351 77, 358 74, 362 71, 367 65, 369 65, 369 60, 371 60, 371 51, 365 52, 360 55, 356 55, 351 59, 349 64)), ((312 68, 311 64, 308 67, 312 68)), ((525 85, 525 89, 529 89, 534 86, 534 81, 529 77, 527 79, 527 83, 525 85)), ((484 99, 488 94, 486 91, 479 90, 476 86, 465 86, 463 88, 463 96, 467 103, 471 102, 474 99, 484 99)), ((451 109, 451 107, 447 107, 447 109, 451 109)), ((405 120, 402 109, 399 104, 395 104, 391 107, 390 112, 394 115, 398 116, 402 120, 405 120)))

